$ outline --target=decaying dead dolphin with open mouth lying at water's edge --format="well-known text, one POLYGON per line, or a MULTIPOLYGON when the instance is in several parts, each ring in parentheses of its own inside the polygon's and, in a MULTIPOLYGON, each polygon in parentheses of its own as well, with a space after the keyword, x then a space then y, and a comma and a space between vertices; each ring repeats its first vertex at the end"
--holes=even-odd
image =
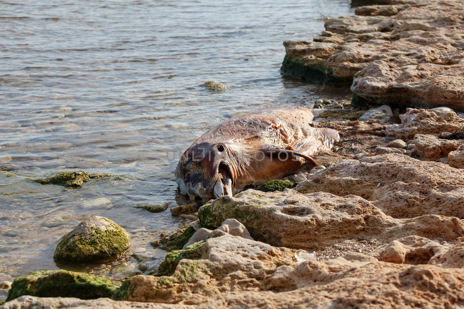
POLYGON ((234 195, 245 186, 285 177, 309 156, 329 151, 340 137, 310 126, 308 108, 263 110, 227 120, 203 134, 176 168, 180 192, 204 201, 234 195))

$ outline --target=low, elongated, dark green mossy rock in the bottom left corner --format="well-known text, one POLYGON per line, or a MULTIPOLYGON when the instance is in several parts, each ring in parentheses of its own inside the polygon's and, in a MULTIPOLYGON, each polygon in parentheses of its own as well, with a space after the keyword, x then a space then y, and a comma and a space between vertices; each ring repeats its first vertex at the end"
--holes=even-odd
POLYGON ((118 287, 110 280, 74 271, 34 271, 14 279, 6 301, 22 295, 39 297, 112 297, 118 287))

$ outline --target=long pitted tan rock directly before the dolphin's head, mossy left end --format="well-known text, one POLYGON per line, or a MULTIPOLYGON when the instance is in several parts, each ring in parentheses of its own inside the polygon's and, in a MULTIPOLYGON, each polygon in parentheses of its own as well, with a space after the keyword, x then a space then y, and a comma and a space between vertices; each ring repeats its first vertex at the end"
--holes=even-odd
POLYGON ((199 218, 201 225, 210 228, 224 218, 235 218, 256 240, 306 250, 356 238, 390 241, 420 235, 454 240, 464 232, 464 223, 456 217, 393 219, 359 196, 301 194, 293 189, 266 193, 248 189, 232 198, 225 196, 202 206, 199 218))

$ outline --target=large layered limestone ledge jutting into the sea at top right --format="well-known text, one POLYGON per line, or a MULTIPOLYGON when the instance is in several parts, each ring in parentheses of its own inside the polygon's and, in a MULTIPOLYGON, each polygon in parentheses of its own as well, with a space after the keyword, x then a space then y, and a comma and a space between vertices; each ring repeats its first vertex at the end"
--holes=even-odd
POLYGON ((352 84, 358 103, 463 111, 464 2, 385 2, 327 20, 313 41, 285 41, 284 74, 352 84))

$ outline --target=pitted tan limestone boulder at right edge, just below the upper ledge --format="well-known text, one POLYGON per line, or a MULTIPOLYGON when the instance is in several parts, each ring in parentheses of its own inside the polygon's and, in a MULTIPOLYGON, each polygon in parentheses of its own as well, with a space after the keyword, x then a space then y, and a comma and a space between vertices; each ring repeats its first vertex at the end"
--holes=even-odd
POLYGON ((453 132, 464 126, 464 120, 456 113, 432 109, 407 108, 400 115, 401 124, 387 127, 385 134, 397 139, 412 139, 416 134, 438 135, 453 132))

